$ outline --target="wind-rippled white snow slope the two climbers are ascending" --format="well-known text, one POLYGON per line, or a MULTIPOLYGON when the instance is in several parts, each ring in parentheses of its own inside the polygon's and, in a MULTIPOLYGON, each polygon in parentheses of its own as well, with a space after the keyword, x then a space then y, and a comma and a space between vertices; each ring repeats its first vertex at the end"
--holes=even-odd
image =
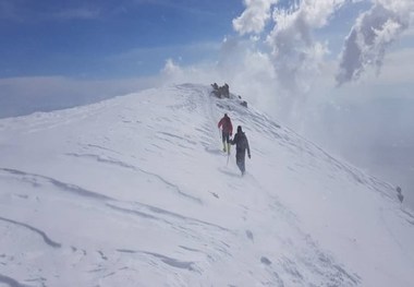
POLYGON ((0 120, 0 286, 412 286, 393 187, 209 92, 0 120), (243 178, 224 112, 251 143, 243 178))

